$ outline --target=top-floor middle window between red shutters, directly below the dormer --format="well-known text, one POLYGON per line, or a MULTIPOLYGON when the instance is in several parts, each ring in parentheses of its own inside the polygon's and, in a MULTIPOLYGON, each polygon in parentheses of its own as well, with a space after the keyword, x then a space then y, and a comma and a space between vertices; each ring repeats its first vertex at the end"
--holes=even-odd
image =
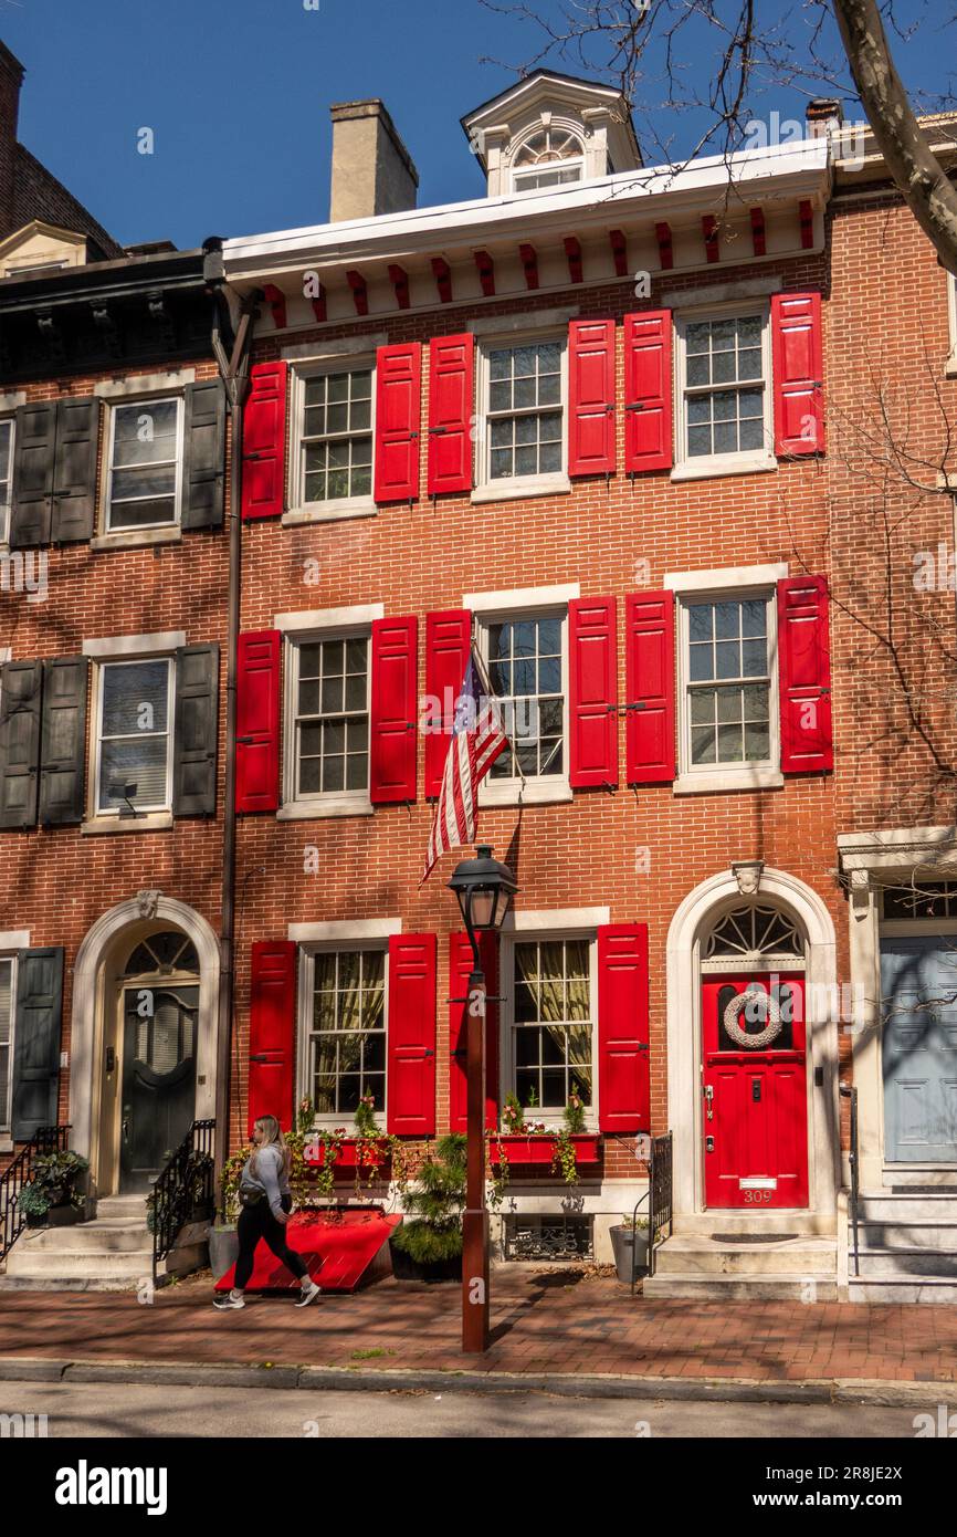
POLYGON ((565 484, 565 341, 490 341, 479 354, 479 490, 565 484))

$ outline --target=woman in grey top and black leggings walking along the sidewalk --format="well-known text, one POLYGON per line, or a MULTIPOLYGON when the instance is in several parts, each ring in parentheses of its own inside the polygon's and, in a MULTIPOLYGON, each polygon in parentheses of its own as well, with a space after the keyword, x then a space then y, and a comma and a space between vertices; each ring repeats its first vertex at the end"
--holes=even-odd
POLYGON ((275 1116, 260 1116, 252 1128, 255 1148, 243 1167, 240 1176, 240 1220, 237 1234, 240 1239, 240 1257, 232 1291, 223 1297, 214 1297, 214 1308, 226 1313, 230 1308, 244 1308, 243 1293, 252 1276, 252 1262, 260 1239, 264 1239, 277 1259, 281 1259, 293 1276, 300 1277, 301 1296, 296 1308, 307 1308, 321 1294, 310 1277, 306 1262, 295 1254, 286 1242, 286 1223, 292 1211, 292 1191, 289 1190, 289 1148, 283 1139, 280 1122, 275 1116))

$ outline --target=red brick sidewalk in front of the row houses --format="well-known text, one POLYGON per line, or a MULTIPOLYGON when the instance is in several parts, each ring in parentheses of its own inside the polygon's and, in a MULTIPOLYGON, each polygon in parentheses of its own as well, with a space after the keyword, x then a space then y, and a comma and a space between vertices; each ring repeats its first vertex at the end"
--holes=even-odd
POLYGON ((462 1357, 453 1285, 389 1279, 303 1310, 252 1297, 217 1314, 210 1303, 209 1276, 152 1306, 129 1293, 3 1291, 0 1357, 957 1382, 957 1308, 644 1302, 611 1277, 508 1266, 493 1273, 492 1348, 462 1357))

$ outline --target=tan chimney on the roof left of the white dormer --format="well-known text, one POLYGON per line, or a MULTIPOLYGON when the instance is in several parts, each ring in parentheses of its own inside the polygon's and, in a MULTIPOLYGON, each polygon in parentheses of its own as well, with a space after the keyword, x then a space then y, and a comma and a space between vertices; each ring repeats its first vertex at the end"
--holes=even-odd
POLYGON ((329 221, 415 207, 419 174, 382 101, 343 101, 332 117, 329 221))

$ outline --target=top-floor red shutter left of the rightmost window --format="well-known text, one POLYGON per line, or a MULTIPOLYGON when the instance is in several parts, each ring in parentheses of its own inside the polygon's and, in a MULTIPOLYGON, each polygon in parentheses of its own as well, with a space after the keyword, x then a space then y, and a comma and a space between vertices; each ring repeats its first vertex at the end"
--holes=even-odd
POLYGON ((625 315, 625 472, 670 470, 671 310, 625 315))

